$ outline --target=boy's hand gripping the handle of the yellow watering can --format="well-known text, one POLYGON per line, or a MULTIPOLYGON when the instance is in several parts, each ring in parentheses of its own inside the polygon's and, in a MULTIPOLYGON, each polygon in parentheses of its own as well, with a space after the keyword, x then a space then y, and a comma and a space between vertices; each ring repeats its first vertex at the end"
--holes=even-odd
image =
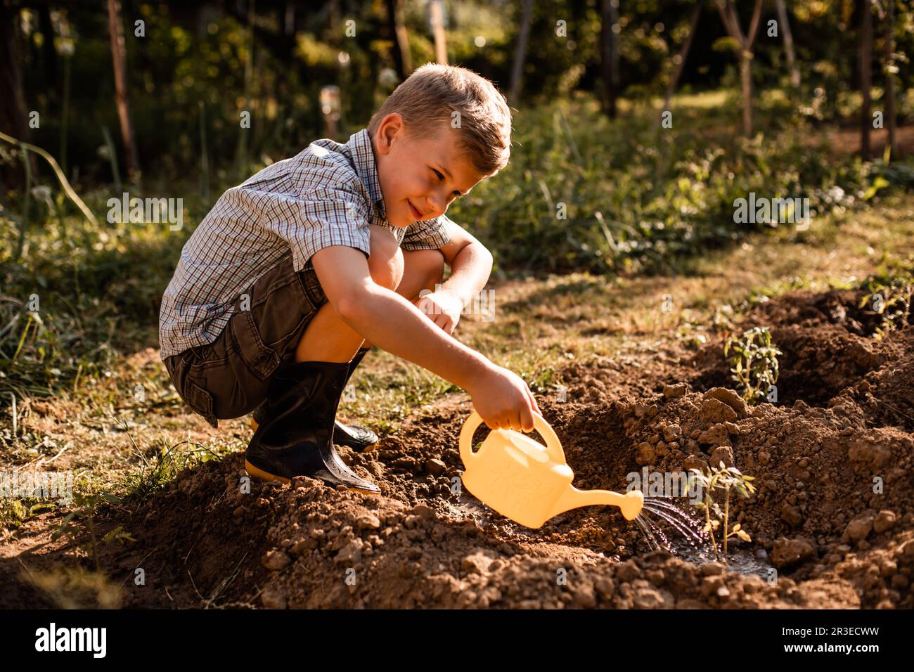
POLYGON ((532 432, 533 413, 543 414, 524 379, 507 368, 493 365, 489 374, 467 391, 473 408, 490 430, 532 432))

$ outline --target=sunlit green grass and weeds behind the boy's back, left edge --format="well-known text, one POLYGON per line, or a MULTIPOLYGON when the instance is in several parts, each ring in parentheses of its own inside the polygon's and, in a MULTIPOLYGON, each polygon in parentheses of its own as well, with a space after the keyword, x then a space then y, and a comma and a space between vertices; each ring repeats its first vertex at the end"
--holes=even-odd
MULTIPOLYGON (((90 208, 103 211, 103 198, 87 198, 90 208)), ((199 212, 195 202, 186 210, 199 212)), ((17 262, 16 239, 0 239, 0 408, 10 393, 95 386, 121 352, 154 342, 159 299, 184 244, 167 227, 99 228, 66 211, 45 214, 17 262)), ((13 226, 0 208, 0 227, 13 226)))

